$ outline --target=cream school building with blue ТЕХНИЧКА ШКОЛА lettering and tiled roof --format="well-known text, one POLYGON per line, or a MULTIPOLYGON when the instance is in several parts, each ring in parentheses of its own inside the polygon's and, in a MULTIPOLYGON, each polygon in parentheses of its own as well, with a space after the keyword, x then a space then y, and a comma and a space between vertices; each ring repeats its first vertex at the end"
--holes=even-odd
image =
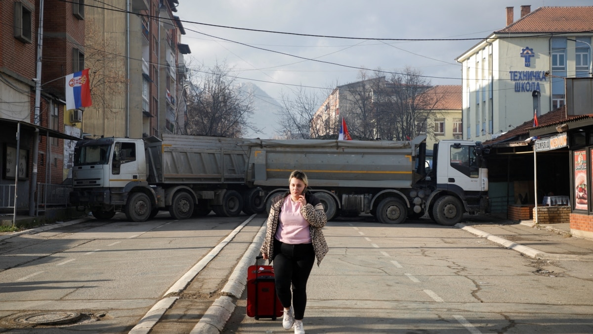
POLYGON ((593 7, 521 6, 517 21, 506 13, 505 28, 456 59, 465 139, 489 140, 563 106, 564 78, 591 75, 593 7))

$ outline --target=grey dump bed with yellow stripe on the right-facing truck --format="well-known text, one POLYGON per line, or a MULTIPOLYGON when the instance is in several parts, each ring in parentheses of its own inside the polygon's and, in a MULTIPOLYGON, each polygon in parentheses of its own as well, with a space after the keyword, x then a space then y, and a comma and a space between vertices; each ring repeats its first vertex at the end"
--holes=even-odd
POLYGON ((415 179, 412 141, 261 140, 251 146, 248 179, 263 187, 286 187, 294 169, 312 187, 410 188, 415 179))

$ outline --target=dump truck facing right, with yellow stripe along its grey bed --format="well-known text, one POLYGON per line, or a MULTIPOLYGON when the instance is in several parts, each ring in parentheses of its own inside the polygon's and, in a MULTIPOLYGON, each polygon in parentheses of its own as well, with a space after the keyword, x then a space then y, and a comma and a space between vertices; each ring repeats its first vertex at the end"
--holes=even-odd
POLYGON ((482 144, 441 140, 426 169, 426 136, 410 141, 260 140, 250 146, 246 182, 267 193, 266 207, 288 190, 294 169, 307 174, 308 189, 336 215, 371 213, 382 223, 401 223, 426 213, 455 225, 464 213, 489 212, 488 170, 482 144), (418 163, 420 162, 420 163, 418 163))

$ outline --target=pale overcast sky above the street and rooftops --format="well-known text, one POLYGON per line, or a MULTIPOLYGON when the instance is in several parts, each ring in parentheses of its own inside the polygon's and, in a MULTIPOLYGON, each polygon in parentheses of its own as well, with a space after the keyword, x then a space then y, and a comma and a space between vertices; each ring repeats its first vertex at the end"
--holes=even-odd
POLYGON ((593 1, 181 0, 176 15, 193 22, 183 22, 186 35, 181 40, 192 51, 186 56, 190 66, 212 67, 226 61, 239 81, 251 81, 278 99, 280 92, 291 94, 299 85, 327 89, 358 81, 359 70, 349 67, 395 72, 412 67, 429 76, 432 84, 461 84, 455 58, 505 27, 506 7, 514 7, 518 20, 521 5, 531 5, 534 11, 543 6, 593 5, 593 1), (381 42, 204 24, 323 36, 473 40, 381 42))

